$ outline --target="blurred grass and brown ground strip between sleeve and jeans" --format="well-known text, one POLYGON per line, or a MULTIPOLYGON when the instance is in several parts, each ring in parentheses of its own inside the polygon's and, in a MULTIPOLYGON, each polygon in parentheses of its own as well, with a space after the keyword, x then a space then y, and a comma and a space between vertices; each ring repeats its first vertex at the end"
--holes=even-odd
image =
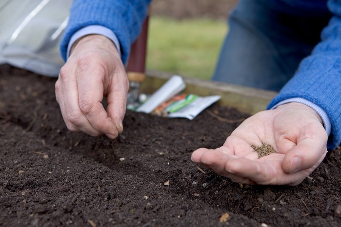
POLYGON ((153 0, 147 70, 209 80, 238 0, 153 0))

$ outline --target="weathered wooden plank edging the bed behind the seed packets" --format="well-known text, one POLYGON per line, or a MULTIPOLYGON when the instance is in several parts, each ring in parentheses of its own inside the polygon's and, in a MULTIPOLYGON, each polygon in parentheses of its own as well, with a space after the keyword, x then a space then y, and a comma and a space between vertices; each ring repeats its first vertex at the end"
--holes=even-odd
MULTIPOLYGON (((141 83, 140 92, 151 94, 158 90, 173 74, 147 70, 146 78, 141 83)), ((215 81, 201 80, 182 76, 185 83, 185 93, 200 96, 221 95, 219 103, 230 106, 247 114, 256 114, 265 110, 276 92, 242 87, 215 81)))

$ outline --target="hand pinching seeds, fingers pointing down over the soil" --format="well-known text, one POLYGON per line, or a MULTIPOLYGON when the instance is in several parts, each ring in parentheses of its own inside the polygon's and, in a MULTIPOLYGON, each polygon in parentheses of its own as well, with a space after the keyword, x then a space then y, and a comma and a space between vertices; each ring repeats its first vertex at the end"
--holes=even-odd
POLYGON ((55 87, 69 130, 92 136, 105 134, 111 139, 123 131, 129 81, 110 39, 88 35, 74 44, 55 87), (104 96, 106 110, 101 103, 104 96))

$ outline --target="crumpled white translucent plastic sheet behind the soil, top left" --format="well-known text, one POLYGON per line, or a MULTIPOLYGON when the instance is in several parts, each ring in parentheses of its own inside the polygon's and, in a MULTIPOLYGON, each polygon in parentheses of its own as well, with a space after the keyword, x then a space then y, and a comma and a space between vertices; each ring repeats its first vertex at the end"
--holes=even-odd
POLYGON ((0 0, 0 63, 58 76, 72 0, 0 0))

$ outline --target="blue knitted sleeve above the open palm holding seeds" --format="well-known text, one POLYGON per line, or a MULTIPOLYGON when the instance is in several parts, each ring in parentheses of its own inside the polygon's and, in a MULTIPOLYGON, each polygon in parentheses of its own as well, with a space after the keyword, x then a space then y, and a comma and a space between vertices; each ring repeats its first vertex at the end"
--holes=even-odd
POLYGON ((328 149, 341 142, 341 0, 329 0, 328 8, 334 14, 321 33, 321 42, 312 54, 304 58, 295 76, 269 104, 301 97, 321 107, 328 114, 332 133, 328 149))

